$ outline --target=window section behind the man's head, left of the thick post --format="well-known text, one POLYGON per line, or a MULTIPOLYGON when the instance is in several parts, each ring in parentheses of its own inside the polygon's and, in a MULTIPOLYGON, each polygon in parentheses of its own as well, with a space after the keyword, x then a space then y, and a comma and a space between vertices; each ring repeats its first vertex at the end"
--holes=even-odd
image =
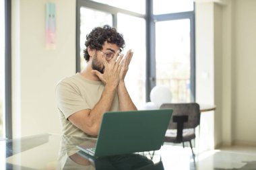
MULTIPOLYGON (((127 90, 131 95, 135 105, 140 107, 146 101, 146 20, 145 15, 132 11, 130 1, 122 1, 115 3, 115 6, 108 6, 94 1, 77 1, 77 15, 80 20, 77 22, 77 42, 79 40, 79 57, 77 57, 77 72, 82 71, 86 67, 83 50, 86 35, 96 26, 108 24, 117 28, 118 32, 123 34, 125 39, 125 48, 123 54, 127 50, 133 50, 133 59, 129 65, 129 71, 125 77, 127 90), (117 8, 125 7, 124 4, 129 4, 125 9, 117 8), (127 11, 131 9, 131 11, 127 11), (88 17, 90 16, 90 17, 88 17), (90 23, 90 24, 88 24, 90 23), (142 64, 141 64, 142 63, 142 64)), ((113 1, 111 1, 113 2, 113 1)), ((145 3, 145 1, 136 1, 137 3, 145 3)), ((144 5, 145 7, 145 5, 144 5)), ((146 7, 145 7, 146 8, 146 7)), ((144 11, 145 11, 144 8, 144 11)), ((140 10, 141 11, 141 10, 140 10)), ((143 11, 143 7, 142 7, 143 11)), ((77 52, 78 53, 78 52, 77 52)))

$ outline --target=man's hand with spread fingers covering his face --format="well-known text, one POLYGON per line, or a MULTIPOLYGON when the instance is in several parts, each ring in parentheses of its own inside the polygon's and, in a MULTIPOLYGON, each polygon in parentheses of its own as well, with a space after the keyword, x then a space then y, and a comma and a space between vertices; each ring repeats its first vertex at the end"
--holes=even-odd
POLYGON ((121 60, 123 58, 123 54, 119 56, 119 50, 116 52, 115 56, 109 62, 106 60, 104 56, 102 56, 102 63, 104 65, 104 73, 100 73, 99 71, 92 70, 98 78, 106 85, 110 84, 113 87, 117 87, 119 84, 119 75, 121 71, 121 60))

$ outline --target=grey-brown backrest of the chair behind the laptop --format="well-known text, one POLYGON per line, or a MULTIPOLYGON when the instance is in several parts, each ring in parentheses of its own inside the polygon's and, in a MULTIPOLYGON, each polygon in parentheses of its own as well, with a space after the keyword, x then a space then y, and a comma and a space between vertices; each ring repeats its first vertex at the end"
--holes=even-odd
POLYGON ((164 103, 160 109, 172 108, 172 118, 168 129, 177 129, 177 123, 174 123, 173 116, 188 116, 188 121, 184 123, 183 128, 195 128, 200 123, 200 108, 198 103, 164 103))

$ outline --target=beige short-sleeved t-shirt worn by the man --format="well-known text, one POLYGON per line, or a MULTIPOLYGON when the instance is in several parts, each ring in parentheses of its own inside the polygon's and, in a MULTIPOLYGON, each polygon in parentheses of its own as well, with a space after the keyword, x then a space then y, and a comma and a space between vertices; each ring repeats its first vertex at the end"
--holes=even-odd
MULTIPOLYGON (((62 125, 62 132, 69 136, 88 136, 74 126, 67 118, 80 110, 92 109, 100 100, 104 84, 101 81, 90 81, 79 73, 61 80, 56 87, 57 106, 62 125)), ((110 111, 118 111, 118 95, 110 111)))

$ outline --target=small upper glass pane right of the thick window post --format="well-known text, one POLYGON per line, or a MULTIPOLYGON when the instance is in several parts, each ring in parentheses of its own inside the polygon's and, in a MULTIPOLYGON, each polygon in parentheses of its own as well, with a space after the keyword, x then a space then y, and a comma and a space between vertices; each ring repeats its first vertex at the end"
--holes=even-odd
POLYGON ((158 15, 193 11, 193 1, 194 0, 153 0, 153 13, 158 15))

